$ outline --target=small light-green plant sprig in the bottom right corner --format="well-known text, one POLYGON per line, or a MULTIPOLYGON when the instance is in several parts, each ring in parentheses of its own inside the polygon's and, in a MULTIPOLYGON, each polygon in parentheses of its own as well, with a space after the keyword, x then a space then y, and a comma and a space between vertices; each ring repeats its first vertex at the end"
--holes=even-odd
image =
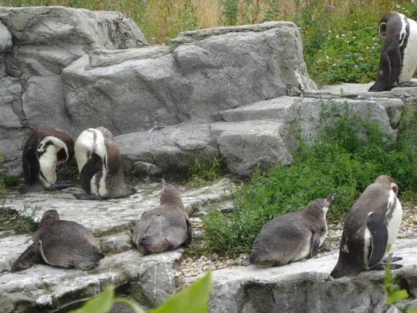
POLYGON ((389 256, 387 257, 386 266, 384 268, 385 275, 382 284, 382 288, 384 288, 384 291, 387 294, 385 303, 387 305, 394 305, 401 313, 417 313, 417 310, 412 308, 410 303, 404 305, 404 300, 409 297, 407 290, 400 289, 400 287, 393 282, 394 275, 390 269, 391 257, 393 254, 389 252, 390 248, 390 246, 386 248, 389 256))

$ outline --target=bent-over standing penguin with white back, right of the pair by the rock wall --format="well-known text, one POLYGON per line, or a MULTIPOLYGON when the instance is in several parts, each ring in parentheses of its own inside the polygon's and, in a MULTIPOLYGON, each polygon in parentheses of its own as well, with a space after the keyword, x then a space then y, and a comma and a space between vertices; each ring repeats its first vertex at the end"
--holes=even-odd
POLYGON ((75 141, 75 157, 81 188, 79 200, 104 200, 133 195, 135 189, 124 182, 122 154, 105 127, 88 128, 75 141))

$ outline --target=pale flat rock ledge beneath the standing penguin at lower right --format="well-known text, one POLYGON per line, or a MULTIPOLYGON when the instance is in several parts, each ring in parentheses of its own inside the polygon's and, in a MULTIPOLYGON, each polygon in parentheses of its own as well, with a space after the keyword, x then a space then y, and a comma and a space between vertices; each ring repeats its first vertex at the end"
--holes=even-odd
MULTIPOLYGON (((414 294, 417 278, 417 238, 398 240, 392 252, 404 267, 394 271, 414 294)), ((386 307, 383 271, 364 272, 352 278, 329 276, 338 250, 316 259, 274 268, 238 266, 212 272, 211 313, 256 312, 395 312, 386 307)), ((197 278, 186 278, 190 283, 197 278)), ((401 284, 404 288, 404 284, 401 284)))

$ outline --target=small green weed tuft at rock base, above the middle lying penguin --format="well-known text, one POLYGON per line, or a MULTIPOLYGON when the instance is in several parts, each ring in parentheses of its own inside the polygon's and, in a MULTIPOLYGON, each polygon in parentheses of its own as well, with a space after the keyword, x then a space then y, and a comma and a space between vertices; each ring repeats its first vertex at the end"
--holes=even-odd
POLYGON ((188 167, 187 186, 197 188, 220 179, 222 161, 223 157, 220 159, 214 158, 212 162, 206 163, 196 157, 193 162, 186 165, 188 167))

